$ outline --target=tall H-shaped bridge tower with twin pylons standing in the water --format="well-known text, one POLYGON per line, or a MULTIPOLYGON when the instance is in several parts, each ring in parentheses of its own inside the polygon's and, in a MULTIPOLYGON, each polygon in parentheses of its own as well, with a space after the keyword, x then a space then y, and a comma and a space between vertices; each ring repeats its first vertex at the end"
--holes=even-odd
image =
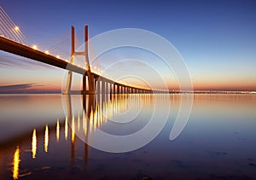
POLYGON ((90 62, 88 55, 88 25, 84 26, 84 51, 75 51, 75 38, 74 38, 74 27, 71 27, 71 60, 70 63, 73 64, 75 56, 84 56, 85 59, 85 73, 83 75, 83 90, 73 91, 71 90, 73 72, 69 71, 67 74, 67 84, 66 89, 63 94, 95 94, 95 80, 93 74, 90 72, 90 62), (86 76, 88 79, 88 90, 86 90, 86 76))

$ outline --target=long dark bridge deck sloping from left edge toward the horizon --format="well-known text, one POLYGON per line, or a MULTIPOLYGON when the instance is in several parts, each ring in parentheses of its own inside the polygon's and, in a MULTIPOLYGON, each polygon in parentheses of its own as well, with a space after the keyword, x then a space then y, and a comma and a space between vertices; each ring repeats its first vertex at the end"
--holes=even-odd
MULTIPOLYGON (((47 55, 40 50, 32 49, 29 46, 20 44, 9 38, 4 38, 2 36, 0 37, 0 50, 9 52, 14 55, 20 55, 20 56, 32 59, 34 61, 40 61, 45 64, 51 65, 53 67, 59 67, 61 69, 72 71, 73 73, 79 73, 87 76, 87 72, 82 67, 78 67, 67 61, 63 61, 53 55, 47 55)), ((141 89, 141 88, 133 87, 126 84, 120 84, 118 82, 114 82, 109 78, 102 77, 99 74, 96 74, 96 73, 91 73, 91 74, 95 78, 95 80, 99 79, 104 83, 113 84, 113 90, 114 90, 113 93, 152 93, 152 90, 146 90, 146 89, 141 89), (116 86, 117 86, 117 90, 115 90, 116 86), (121 87, 121 90, 119 90, 119 87, 121 87)), ((154 90, 154 93, 168 93, 168 92, 164 90, 154 90)))

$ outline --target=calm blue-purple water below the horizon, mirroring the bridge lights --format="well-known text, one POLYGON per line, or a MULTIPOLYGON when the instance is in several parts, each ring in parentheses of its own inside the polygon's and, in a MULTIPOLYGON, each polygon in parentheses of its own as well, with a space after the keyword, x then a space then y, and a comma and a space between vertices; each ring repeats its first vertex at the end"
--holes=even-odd
POLYGON ((256 179, 256 96, 195 95, 188 123, 171 141, 180 100, 1 95, 0 179, 256 179), (98 130, 125 136, 152 117, 162 123, 166 113, 160 134, 137 150, 108 153, 84 143, 108 145, 98 130))

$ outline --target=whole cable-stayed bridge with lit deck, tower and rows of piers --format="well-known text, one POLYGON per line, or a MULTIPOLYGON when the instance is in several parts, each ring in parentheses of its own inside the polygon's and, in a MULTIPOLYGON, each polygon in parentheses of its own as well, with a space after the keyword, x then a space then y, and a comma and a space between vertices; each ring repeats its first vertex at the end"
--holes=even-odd
MULTIPOLYGON (((1 7, 0 7, 1 8, 1 7)), ((1 21, 8 23, 4 20, 9 19, 9 16, 0 9, 0 12, 3 14, 1 16, 1 21)), ((12 22, 12 21, 11 21, 12 22)), ((7 25, 6 25, 7 26, 7 25)), ((19 27, 15 26, 14 23, 9 23, 8 26, 12 26, 11 29, 19 31, 19 27)), ((2 25, 2 29, 6 32, 9 28, 2 25)), ((0 29, 1 30, 1 29, 0 29)), ((12 34, 14 32, 8 32, 12 34)), ((40 61, 45 64, 48 64, 53 67, 59 67, 68 71, 67 75, 67 84, 66 89, 62 92, 63 94, 83 94, 83 95, 94 95, 94 94, 126 94, 126 93, 169 93, 169 90, 152 90, 148 87, 137 87, 131 84, 124 84, 116 82, 113 79, 103 77, 98 73, 93 73, 90 70, 90 61, 88 55, 88 26, 84 27, 84 51, 77 52, 75 51, 75 34, 74 27, 71 28, 72 42, 71 42, 71 54, 70 61, 65 61, 58 56, 49 55, 49 52, 43 52, 38 50, 35 47, 30 47, 26 44, 23 44, 19 41, 15 41, 11 38, 5 37, 0 33, 0 50, 9 52, 14 55, 20 55, 22 57, 29 58, 34 61, 40 61), (85 68, 79 67, 74 64, 75 56, 84 56, 85 68), (79 73, 83 76, 83 88, 82 90, 71 90, 73 73, 79 73)), ((9 36, 11 37, 11 36, 9 36)), ((19 38, 19 35, 15 33, 15 37, 21 41, 22 38, 19 38)))

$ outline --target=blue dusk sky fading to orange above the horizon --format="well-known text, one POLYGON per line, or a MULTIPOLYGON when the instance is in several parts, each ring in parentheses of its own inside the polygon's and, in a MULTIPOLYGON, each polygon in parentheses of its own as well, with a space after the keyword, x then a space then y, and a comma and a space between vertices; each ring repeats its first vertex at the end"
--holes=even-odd
MULTIPOLYGON (((0 5, 28 41, 38 44, 42 50, 67 38, 72 25, 82 34, 84 25, 88 24, 90 38, 119 28, 138 28, 160 35, 177 49, 189 69, 195 90, 256 90, 256 2, 253 0, 2 0, 0 5)), ((79 40, 83 41, 82 38, 79 40)), ((126 48, 111 53, 105 59, 143 59, 158 68, 170 89, 178 88, 174 73, 161 67, 164 65, 156 63, 158 57, 145 50, 126 48)), ((2 51, 0 55, 0 91, 61 90, 66 71, 2 51)), ((99 63, 104 68, 110 61, 99 60, 99 63)), ((139 71, 139 66, 132 65, 128 63, 125 67, 139 71)), ((125 70, 121 67, 112 76, 122 77, 125 70)), ((152 78, 150 69, 141 70, 152 78)), ((74 82, 79 84, 80 78, 76 78, 74 82)))

